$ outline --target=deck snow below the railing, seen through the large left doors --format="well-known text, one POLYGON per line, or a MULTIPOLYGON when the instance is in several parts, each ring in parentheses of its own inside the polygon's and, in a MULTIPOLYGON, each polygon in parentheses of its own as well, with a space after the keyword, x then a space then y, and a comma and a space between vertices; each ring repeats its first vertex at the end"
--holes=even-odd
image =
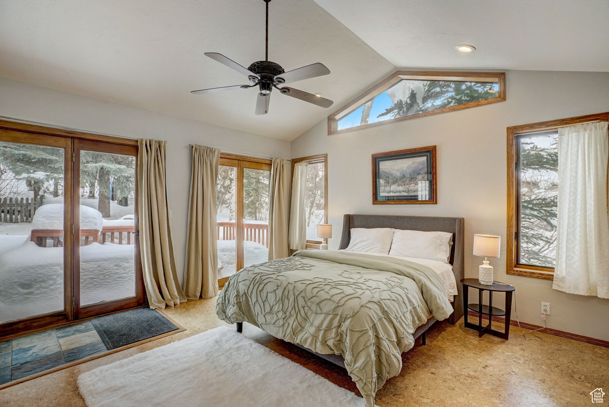
MULTIPOLYGON (((63 248, 38 247, 0 235, 0 323, 63 310, 63 248)), ((25 239, 24 239, 25 240, 25 239)), ((134 246, 93 243, 80 248, 81 304, 135 295, 134 246)))

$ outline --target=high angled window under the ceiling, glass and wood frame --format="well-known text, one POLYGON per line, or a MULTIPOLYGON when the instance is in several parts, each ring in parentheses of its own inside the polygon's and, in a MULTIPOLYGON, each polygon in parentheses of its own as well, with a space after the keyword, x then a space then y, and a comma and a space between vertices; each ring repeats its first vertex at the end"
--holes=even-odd
POLYGON ((504 73, 398 71, 329 116, 328 135, 504 100, 504 73))

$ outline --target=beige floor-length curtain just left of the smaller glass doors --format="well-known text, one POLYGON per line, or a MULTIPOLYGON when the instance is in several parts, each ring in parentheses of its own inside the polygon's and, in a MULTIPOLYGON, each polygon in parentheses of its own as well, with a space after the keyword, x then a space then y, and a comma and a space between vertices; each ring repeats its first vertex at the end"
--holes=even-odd
POLYGON ((192 146, 184 291, 189 300, 218 294, 216 179, 220 150, 192 146))

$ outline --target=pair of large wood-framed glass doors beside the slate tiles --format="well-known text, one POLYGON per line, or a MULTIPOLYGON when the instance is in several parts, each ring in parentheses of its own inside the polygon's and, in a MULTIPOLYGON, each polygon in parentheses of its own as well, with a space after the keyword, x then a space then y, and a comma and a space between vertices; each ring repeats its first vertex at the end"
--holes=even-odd
POLYGON ((145 302, 136 153, 0 130, 0 338, 145 302))

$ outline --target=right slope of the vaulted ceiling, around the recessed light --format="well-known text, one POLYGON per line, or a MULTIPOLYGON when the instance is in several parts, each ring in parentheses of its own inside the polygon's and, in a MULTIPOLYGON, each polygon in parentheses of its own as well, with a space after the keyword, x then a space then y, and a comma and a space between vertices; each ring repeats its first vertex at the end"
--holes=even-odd
POLYGON ((399 68, 609 71, 608 0, 315 2, 399 68))

